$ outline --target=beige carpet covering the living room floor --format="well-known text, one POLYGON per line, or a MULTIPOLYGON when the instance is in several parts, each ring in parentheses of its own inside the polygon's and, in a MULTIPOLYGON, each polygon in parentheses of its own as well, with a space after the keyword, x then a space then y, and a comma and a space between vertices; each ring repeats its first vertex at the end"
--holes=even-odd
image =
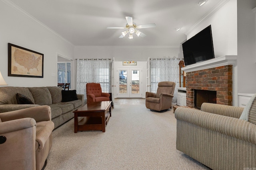
POLYGON ((173 110, 115 105, 102 131, 74 133, 74 119, 53 131, 45 170, 207 170, 176 150, 173 110))

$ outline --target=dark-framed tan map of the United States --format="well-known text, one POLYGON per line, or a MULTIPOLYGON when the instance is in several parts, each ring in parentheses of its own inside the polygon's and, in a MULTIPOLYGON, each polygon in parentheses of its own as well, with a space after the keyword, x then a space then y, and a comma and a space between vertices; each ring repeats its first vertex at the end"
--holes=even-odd
POLYGON ((44 55, 8 43, 8 76, 43 78, 44 55))

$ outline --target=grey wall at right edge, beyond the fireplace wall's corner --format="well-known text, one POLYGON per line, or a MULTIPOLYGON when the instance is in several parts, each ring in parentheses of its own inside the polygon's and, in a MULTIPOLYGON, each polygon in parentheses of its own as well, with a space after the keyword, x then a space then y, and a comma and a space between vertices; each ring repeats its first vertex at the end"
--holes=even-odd
POLYGON ((238 0, 238 93, 256 93, 256 0, 238 0))

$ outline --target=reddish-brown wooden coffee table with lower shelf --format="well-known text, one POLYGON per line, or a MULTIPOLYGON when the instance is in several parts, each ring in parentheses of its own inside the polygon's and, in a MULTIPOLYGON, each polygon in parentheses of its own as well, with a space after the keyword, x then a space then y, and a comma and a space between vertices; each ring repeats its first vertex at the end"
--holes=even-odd
POLYGON ((91 102, 75 111, 74 132, 100 130, 106 131, 106 125, 111 117, 111 101, 91 102), (78 122, 78 117, 83 117, 78 122))

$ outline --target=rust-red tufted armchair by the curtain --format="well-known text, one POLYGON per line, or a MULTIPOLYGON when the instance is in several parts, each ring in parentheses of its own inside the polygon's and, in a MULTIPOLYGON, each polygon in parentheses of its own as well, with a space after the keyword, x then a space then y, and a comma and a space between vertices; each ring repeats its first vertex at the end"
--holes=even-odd
POLYGON ((87 103, 109 101, 110 94, 102 93, 100 83, 87 83, 86 84, 87 103))

